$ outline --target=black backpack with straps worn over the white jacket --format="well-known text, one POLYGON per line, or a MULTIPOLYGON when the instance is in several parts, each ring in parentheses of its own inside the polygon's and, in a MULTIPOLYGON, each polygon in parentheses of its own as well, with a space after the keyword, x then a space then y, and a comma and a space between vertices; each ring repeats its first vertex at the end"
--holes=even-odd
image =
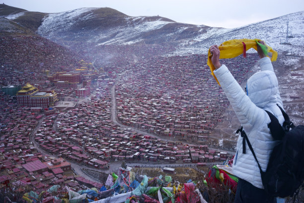
MULTIPOLYGON (((278 105, 279 106, 279 105, 278 105)), ((304 186, 304 125, 295 126, 287 113, 281 109, 285 121, 283 127, 278 119, 266 110, 271 122, 268 124, 274 139, 280 140, 273 148, 265 172, 255 156, 246 133, 241 129, 243 137, 243 153, 245 153, 245 140, 260 169, 262 183, 265 191, 273 197, 285 198, 299 193, 300 186, 304 186), (299 189, 297 191, 297 189, 299 189)))

